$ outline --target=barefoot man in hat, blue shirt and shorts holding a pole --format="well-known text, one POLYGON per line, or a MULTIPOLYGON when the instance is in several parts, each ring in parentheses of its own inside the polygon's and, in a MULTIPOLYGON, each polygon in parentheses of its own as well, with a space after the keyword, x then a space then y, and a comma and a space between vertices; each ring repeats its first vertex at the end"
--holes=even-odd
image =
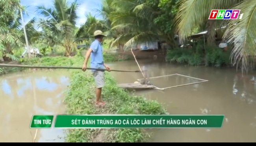
MULTIPOLYGON (((83 63, 82 70, 85 71, 87 68, 88 60, 91 56, 91 68, 106 68, 110 71, 110 68, 104 63, 103 60, 103 48, 101 42, 103 37, 106 36, 102 31, 95 31, 94 35, 95 41, 91 43, 89 50, 85 54, 85 61, 83 63)), ((105 85, 104 71, 92 70, 93 76, 96 83, 96 106, 104 106, 106 102, 104 102, 101 98, 102 88, 105 85)))

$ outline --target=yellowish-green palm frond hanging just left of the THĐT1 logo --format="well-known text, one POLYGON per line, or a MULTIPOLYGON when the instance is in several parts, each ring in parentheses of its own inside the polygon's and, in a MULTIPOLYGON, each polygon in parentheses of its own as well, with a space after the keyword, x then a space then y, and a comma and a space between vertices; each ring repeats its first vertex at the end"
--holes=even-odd
POLYGON ((185 41, 193 29, 208 19, 212 9, 230 9, 241 0, 181 0, 176 16, 176 32, 185 41))

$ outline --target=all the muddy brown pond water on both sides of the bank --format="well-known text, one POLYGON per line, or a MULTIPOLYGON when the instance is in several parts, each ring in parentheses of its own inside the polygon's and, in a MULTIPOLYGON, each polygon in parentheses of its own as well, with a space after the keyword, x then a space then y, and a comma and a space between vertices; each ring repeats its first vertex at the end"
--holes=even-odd
MULTIPOLYGON (((158 100, 170 114, 225 115, 223 128, 177 128, 154 130, 152 142, 256 142, 256 72, 242 77, 232 68, 189 67, 139 61, 148 76, 182 74, 208 82, 167 90, 136 92, 158 100)), ((135 61, 109 63, 118 70, 138 70, 135 61)), ((118 83, 143 78, 140 73, 111 72, 118 83)), ((65 70, 18 72, 0 76, 0 142, 32 142, 29 128, 33 114, 64 114, 63 92, 69 84, 65 70)), ((197 82, 182 76, 150 80, 159 88, 197 82)), ((39 130, 37 142, 64 142, 60 129, 39 130)))

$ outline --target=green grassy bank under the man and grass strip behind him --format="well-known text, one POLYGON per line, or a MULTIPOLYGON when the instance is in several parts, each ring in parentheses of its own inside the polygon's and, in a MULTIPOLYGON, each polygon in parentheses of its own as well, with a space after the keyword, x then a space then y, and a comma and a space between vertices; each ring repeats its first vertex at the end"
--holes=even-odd
MULTIPOLYGON (((108 58, 105 58, 108 61, 108 58)), ((83 56, 44 57, 20 60, 29 65, 81 67, 83 56)), ((91 71, 69 70, 71 73, 69 90, 65 97, 67 114, 165 114, 165 108, 157 101, 131 96, 117 87, 115 79, 106 72, 106 87, 103 98, 104 108, 95 107, 95 83, 91 71)), ((148 134, 143 129, 70 129, 66 142, 145 142, 148 134)))

